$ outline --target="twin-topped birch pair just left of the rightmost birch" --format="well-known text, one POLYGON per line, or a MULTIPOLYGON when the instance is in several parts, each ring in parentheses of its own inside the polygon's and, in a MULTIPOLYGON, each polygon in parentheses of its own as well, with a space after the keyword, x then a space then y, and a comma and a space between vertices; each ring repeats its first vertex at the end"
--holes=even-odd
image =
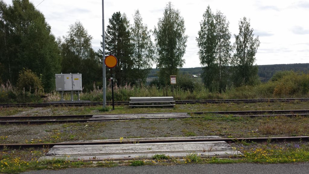
POLYGON ((203 80, 210 91, 220 92, 227 85, 226 69, 231 58, 231 33, 226 17, 217 11, 214 14, 208 6, 200 23, 196 38, 199 58, 203 66, 203 80))

